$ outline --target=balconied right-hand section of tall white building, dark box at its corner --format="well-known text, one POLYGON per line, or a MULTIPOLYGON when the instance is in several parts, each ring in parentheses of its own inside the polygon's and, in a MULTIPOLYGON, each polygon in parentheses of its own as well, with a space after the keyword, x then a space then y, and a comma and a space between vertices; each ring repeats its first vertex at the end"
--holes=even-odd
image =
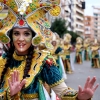
POLYGON ((73 31, 79 34, 80 36, 84 36, 84 9, 85 2, 79 0, 73 0, 72 2, 72 28, 73 31))

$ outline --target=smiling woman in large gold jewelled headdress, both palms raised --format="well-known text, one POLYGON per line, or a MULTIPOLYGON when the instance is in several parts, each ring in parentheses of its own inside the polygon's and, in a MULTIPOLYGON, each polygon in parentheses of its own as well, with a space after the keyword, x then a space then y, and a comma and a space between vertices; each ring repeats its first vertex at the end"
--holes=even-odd
POLYGON ((8 7, 7 17, 0 21, 0 41, 4 44, 10 42, 8 52, 0 58, 0 99, 48 100, 43 92, 44 82, 62 100, 89 100, 97 89, 98 84, 94 86, 96 77, 88 77, 85 87, 79 86, 78 92, 68 88, 53 59, 51 61, 45 52, 35 51, 34 46, 44 42, 41 27, 49 28, 44 15, 49 12, 56 16, 57 11, 60 12, 59 2, 54 4, 52 0, 49 3, 0 0, 0 12, 4 6, 8 7))

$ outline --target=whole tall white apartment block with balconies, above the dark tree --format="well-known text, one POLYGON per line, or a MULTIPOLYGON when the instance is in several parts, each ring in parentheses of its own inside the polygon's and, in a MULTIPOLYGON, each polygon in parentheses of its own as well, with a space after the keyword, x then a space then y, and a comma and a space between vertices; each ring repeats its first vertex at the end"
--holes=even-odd
POLYGON ((61 0, 62 17, 67 20, 68 30, 83 37, 85 2, 81 0, 61 0))

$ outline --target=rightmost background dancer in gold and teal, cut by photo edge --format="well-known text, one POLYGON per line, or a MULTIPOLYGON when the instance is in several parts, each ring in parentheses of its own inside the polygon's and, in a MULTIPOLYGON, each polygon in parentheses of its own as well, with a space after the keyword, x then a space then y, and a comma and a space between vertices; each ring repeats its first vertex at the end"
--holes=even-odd
POLYGON ((91 66, 93 68, 100 68, 100 57, 99 57, 99 44, 97 39, 94 39, 94 42, 91 45, 91 66))

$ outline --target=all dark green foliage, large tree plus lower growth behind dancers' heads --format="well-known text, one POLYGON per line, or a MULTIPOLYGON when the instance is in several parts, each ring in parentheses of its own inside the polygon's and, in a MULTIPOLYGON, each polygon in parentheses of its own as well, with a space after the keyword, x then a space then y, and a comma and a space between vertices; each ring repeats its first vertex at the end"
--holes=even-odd
POLYGON ((61 38, 64 36, 64 34, 69 33, 72 36, 72 44, 75 44, 76 38, 79 37, 77 33, 67 30, 66 20, 62 18, 55 19, 55 21, 51 24, 51 31, 56 32, 61 38))

